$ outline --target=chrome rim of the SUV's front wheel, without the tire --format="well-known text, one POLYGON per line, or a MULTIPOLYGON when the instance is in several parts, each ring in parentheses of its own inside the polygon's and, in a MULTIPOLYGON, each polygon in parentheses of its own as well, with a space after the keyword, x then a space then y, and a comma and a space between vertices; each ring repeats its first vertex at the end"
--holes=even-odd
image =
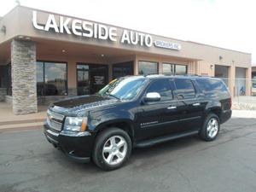
POLYGON ((125 159, 127 153, 127 143, 124 137, 113 136, 108 138, 102 149, 103 160, 114 166, 125 159))

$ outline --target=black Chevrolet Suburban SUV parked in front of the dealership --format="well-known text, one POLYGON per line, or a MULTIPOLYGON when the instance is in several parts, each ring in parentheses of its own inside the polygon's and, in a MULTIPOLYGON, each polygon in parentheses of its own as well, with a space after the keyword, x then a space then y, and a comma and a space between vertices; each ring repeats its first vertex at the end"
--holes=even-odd
POLYGON ((117 169, 132 148, 198 134, 214 140, 231 116, 230 93, 220 79, 148 75, 114 79, 91 96, 49 106, 44 134, 79 161, 117 169))

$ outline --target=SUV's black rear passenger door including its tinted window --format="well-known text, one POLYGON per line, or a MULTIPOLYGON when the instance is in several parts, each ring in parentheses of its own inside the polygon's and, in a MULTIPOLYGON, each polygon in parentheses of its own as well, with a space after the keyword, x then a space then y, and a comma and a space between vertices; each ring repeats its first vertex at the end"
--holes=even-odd
POLYGON ((198 130, 202 125, 204 104, 190 79, 174 79, 180 131, 198 130))

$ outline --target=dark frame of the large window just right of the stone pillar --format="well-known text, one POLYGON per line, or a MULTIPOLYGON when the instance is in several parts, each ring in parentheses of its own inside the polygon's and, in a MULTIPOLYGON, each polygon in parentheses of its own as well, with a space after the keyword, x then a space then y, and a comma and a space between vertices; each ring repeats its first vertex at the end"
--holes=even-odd
MULTIPOLYGON (((59 63, 59 64, 65 64, 66 66, 66 83, 65 83, 65 88, 66 88, 66 92, 67 92, 67 95, 64 95, 64 96, 68 96, 68 86, 67 86, 67 82, 68 82, 68 75, 67 75, 67 72, 68 72, 68 65, 67 65, 67 61, 48 61, 48 60, 37 60, 36 61, 36 65, 38 65, 38 62, 43 62, 43 79, 44 79, 44 95, 42 96, 47 96, 45 95, 45 63, 48 62, 48 63, 59 63)), ((38 80, 37 80, 37 89, 38 89, 38 80)), ((54 95, 54 96, 60 96, 60 95, 54 95)))

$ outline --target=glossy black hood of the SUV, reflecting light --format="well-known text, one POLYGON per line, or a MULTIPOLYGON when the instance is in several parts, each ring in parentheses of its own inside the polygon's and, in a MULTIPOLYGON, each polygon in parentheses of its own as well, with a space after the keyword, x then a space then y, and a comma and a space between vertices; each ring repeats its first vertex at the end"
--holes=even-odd
POLYGON ((118 100, 107 96, 75 96, 55 102, 50 108, 57 113, 83 113, 84 109, 103 107, 114 102, 118 100))

